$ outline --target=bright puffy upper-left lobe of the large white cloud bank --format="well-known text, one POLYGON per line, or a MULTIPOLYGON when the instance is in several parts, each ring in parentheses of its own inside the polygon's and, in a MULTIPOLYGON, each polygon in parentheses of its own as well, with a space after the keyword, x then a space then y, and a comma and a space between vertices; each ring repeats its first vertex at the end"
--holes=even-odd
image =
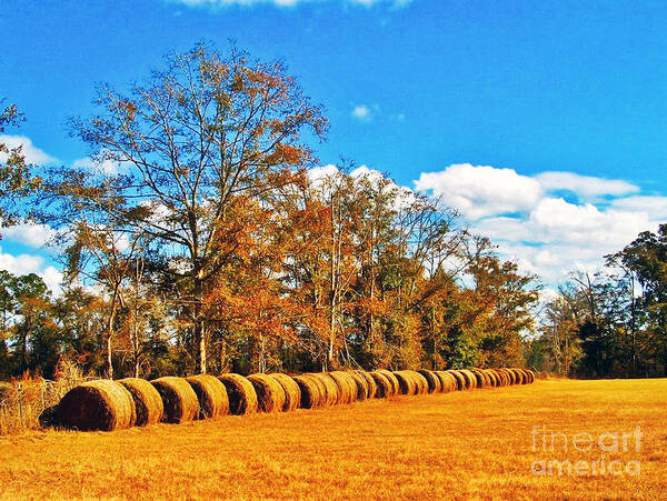
POLYGON ((422 172, 415 188, 440 198, 470 220, 528 211, 544 194, 537 180, 518 174, 514 169, 469 163, 449 166, 439 172, 422 172))

